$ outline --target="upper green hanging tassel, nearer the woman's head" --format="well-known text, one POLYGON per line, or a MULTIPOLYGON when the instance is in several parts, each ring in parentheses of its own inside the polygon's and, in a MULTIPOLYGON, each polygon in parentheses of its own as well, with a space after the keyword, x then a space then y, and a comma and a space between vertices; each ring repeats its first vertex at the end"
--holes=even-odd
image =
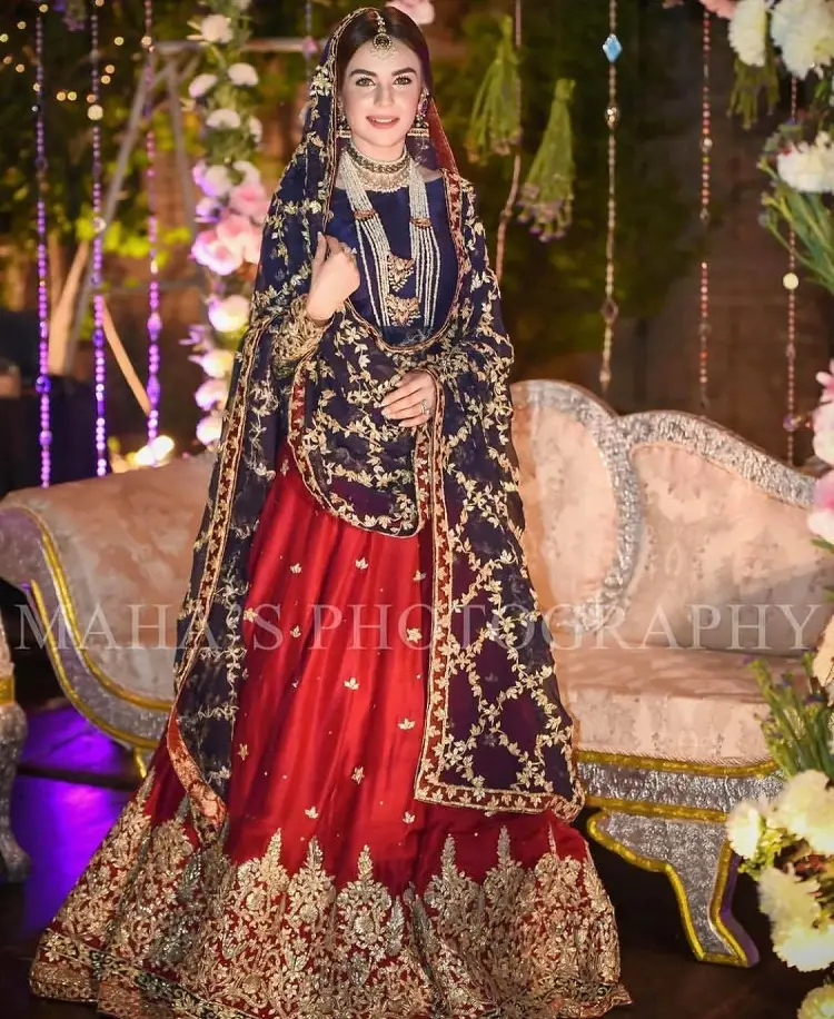
POLYGON ((495 60, 475 98, 466 150, 471 162, 490 155, 507 156, 522 138, 518 95, 518 52, 513 42, 513 19, 502 19, 502 38, 495 60))

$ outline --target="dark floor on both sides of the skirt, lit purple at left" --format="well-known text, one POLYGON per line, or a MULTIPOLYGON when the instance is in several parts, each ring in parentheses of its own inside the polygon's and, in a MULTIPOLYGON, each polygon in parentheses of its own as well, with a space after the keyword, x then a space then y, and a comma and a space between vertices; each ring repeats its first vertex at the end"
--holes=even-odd
MULTIPOLYGON (((37 664, 37 663, 36 663, 37 664)), ((38 936, 111 825, 137 782, 130 755, 56 695, 42 667, 21 662, 18 692, 29 736, 12 800, 12 824, 32 857, 24 886, 0 887, 0 1019, 91 1019, 92 1009, 31 999, 27 972, 38 936)), ((792 1019, 813 975, 786 969, 767 951, 755 889, 742 879, 736 914, 764 950, 752 970, 693 960, 672 889, 595 848, 620 924, 629 1019, 792 1019)))

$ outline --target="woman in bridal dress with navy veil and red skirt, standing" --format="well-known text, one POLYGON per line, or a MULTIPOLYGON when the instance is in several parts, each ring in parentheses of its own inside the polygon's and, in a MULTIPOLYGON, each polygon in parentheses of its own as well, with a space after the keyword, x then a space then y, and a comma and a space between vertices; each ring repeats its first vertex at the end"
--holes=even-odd
POLYGON ((330 38, 264 234, 147 779, 31 986, 121 1019, 628 1002, 524 561, 513 349, 419 29, 330 38))

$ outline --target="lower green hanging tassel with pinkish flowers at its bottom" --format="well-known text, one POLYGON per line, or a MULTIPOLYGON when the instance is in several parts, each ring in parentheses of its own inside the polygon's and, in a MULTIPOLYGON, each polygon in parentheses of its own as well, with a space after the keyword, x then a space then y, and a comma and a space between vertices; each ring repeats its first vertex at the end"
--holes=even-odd
POLYGON ((569 106, 575 85, 569 78, 556 82, 550 119, 518 200, 518 218, 532 224, 530 233, 543 241, 564 237, 573 219, 576 167, 569 106))

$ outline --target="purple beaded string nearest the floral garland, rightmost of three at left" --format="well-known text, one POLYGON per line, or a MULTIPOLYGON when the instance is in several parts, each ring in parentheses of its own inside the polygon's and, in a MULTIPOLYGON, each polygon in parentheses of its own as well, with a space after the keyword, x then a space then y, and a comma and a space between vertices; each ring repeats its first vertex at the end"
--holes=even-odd
POLYGON ((148 158, 146 190, 148 195, 148 443, 159 435, 159 334, 162 319, 159 314, 159 219, 157 216, 157 140, 153 132, 153 0, 145 0, 145 34, 142 46, 147 50, 145 73, 148 82, 148 100, 145 119, 148 125, 145 136, 145 151, 148 158))

